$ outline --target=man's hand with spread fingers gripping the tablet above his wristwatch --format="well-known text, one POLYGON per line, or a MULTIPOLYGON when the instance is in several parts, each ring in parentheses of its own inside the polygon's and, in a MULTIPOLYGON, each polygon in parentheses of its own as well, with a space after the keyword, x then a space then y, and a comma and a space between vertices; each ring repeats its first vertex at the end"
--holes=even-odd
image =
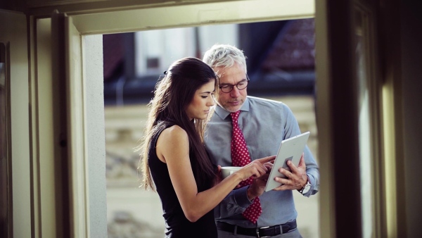
POLYGON ((281 191, 281 190, 296 190, 296 189, 302 189, 303 186, 305 186, 307 182, 307 175, 306 175, 306 165, 305 165, 305 159, 300 157, 299 165, 296 167, 291 161, 287 162, 288 167, 290 168, 290 171, 279 168, 279 172, 283 175, 286 175, 287 178, 282 177, 276 177, 276 182, 280 182, 280 187, 276 187, 273 190, 281 191))

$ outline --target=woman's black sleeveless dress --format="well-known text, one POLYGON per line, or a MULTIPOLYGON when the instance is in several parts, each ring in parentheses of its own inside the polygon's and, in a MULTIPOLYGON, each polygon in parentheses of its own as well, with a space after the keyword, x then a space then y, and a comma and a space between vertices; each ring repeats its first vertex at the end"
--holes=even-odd
MULTIPOLYGON (((214 211, 203 215, 195 223, 191 223, 184 215, 179 199, 177 199, 172 181, 170 180, 167 164, 160 161, 155 146, 161 132, 170 125, 161 126, 158 132, 151 138, 151 144, 148 151, 148 165, 151 170, 155 187, 162 203, 163 217, 165 219, 165 237, 217 237, 217 227, 215 226, 214 211)), ((189 156, 192 156, 191 154, 189 156)), ((192 158, 192 157, 191 157, 192 158)), ((209 187, 198 188, 202 192, 209 187)))

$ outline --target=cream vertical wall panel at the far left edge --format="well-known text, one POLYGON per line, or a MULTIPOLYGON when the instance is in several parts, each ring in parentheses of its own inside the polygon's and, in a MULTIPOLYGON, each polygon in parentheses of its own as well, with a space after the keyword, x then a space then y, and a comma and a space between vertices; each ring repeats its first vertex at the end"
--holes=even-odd
POLYGON ((10 67, 10 120, 13 237, 30 237, 31 184, 30 125, 28 118, 29 82, 27 57, 26 16, 21 13, 0 11, 0 41, 6 44, 6 63, 10 67), (13 24, 2 24, 13 22, 13 24), (18 225, 16 225, 18 224, 18 225))

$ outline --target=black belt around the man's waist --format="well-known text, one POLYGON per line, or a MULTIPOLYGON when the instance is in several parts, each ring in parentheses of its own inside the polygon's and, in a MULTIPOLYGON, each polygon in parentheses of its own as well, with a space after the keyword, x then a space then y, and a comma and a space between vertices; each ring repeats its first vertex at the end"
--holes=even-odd
POLYGON ((261 228, 244 228, 238 225, 231 225, 229 223, 217 222, 217 228, 225 232, 236 232, 236 234, 248 235, 250 237, 272 237, 278 234, 290 232, 296 228, 296 220, 281 225, 273 225, 271 227, 261 228), (281 227, 281 230, 280 230, 281 227), (237 228, 237 229, 236 229, 237 228), (282 231, 282 232, 281 232, 282 231))

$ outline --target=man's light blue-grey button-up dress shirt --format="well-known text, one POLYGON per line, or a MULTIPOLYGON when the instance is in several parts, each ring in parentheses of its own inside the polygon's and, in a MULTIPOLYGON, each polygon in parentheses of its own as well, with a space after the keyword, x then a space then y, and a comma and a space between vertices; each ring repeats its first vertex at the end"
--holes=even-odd
MULTIPOLYGON (((298 121, 290 108, 279 101, 248 96, 238 118, 239 127, 245 137, 250 158, 263 158, 277 154, 283 139, 300 134, 298 121)), ((229 111, 216 106, 215 113, 207 124, 205 147, 212 163, 231 165, 231 116, 229 111)), ((305 196, 316 194, 319 189, 319 168, 311 151, 305 148, 306 173, 311 189, 305 196)), ((269 191, 260 196, 262 214, 256 224, 246 220, 242 213, 250 204, 246 193, 248 186, 233 190, 215 208, 215 219, 241 227, 267 227, 295 220, 298 213, 293 201, 293 192, 269 191)))

